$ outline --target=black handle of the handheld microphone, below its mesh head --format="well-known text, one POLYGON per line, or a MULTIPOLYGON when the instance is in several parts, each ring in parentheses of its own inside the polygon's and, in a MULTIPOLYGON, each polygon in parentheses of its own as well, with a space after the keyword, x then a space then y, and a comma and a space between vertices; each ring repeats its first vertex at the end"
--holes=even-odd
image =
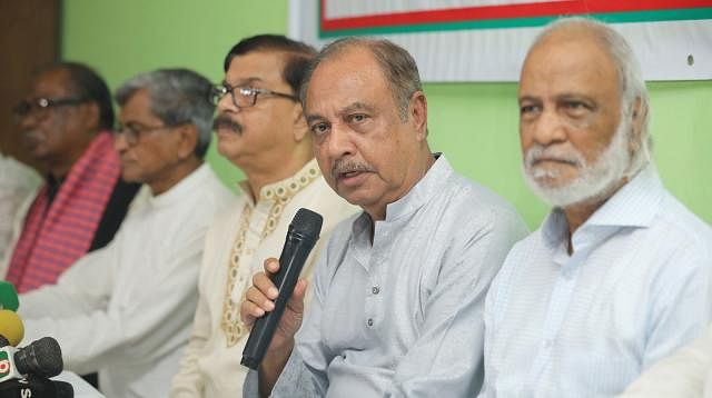
POLYGON ((287 307, 287 301, 289 301, 289 297, 291 297, 291 292, 297 285, 301 268, 304 268, 304 263, 315 243, 316 239, 314 237, 296 231, 290 231, 287 235, 281 256, 279 256, 279 271, 271 278, 279 291, 275 300, 275 309, 255 321, 245 345, 240 364, 257 370, 257 367, 263 361, 279 319, 281 319, 281 315, 287 307))

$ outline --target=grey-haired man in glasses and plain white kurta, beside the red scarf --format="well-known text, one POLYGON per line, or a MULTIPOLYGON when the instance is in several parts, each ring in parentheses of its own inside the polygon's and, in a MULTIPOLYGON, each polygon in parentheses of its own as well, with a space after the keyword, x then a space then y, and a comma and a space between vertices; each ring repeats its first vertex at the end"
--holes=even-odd
POLYGON ((185 69, 118 89, 121 173, 145 186, 111 243, 20 296, 24 341, 57 338, 65 368, 98 370, 108 397, 166 397, 188 340, 205 233, 231 198, 202 162, 209 89, 185 69))

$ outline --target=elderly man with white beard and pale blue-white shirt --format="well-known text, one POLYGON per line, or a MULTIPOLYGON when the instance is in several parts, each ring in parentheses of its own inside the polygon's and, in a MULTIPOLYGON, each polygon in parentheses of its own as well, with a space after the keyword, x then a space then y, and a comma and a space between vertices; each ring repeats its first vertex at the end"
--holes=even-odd
POLYGON ((525 179, 554 209, 487 295, 481 395, 612 396, 709 321, 712 230, 657 177, 645 82, 620 33, 547 27, 518 101, 525 179))

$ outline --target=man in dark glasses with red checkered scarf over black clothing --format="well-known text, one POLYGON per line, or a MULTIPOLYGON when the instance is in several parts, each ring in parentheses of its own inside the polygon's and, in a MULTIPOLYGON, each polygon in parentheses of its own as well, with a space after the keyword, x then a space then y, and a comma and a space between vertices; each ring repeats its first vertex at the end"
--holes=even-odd
POLYGON ((23 143, 47 181, 19 211, 0 277, 26 292, 52 285, 116 233, 138 185, 120 178, 109 129, 111 96, 90 68, 65 62, 37 74, 16 108, 23 143))

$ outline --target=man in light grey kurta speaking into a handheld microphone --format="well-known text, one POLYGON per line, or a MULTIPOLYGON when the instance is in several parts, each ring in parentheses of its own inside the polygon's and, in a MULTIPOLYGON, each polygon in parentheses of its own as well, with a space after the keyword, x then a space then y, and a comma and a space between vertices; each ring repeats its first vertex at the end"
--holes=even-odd
MULTIPOLYGON (((301 92, 319 167, 363 212, 320 255, 306 314, 306 281, 297 283, 246 391, 472 397, 482 384, 485 292, 523 222, 431 151, 425 94, 404 49, 336 41, 301 92)), ((268 259, 255 276, 241 306, 247 325, 273 309, 268 273, 277 268, 268 259)))

